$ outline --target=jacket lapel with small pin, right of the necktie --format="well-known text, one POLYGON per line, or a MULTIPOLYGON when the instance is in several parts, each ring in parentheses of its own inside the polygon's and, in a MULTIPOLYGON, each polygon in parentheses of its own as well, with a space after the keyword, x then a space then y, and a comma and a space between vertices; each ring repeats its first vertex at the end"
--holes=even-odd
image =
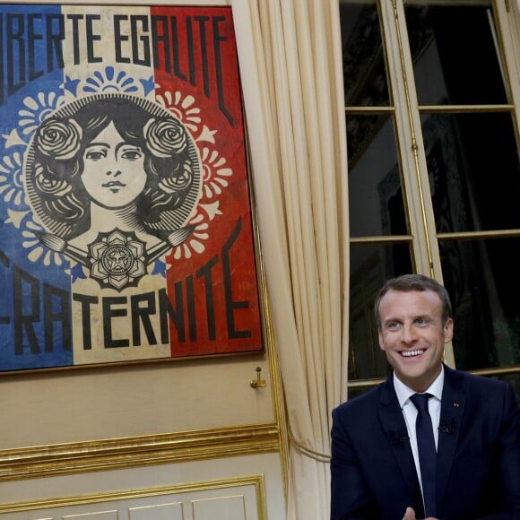
POLYGON ((438 427, 437 503, 442 504, 446 484, 455 456, 455 447, 461 431, 466 403, 464 381, 445 366, 444 387, 438 427))

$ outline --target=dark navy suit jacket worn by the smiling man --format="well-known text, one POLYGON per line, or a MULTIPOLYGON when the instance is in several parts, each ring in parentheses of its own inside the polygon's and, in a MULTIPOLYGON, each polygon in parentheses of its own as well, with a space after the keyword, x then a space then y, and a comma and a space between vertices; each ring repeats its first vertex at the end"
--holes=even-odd
MULTIPOLYGON (((511 386, 445 367, 438 434, 442 519, 520 519, 520 409, 511 386)), ((393 377, 333 412, 331 519, 424 517, 393 377)))

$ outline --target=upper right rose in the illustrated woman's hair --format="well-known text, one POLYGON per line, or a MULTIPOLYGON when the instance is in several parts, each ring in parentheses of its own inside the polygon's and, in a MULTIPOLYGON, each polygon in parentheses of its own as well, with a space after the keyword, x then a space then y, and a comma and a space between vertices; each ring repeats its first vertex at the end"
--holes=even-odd
POLYGON ((174 118, 150 119, 143 134, 149 150, 157 157, 171 157, 187 146, 186 129, 174 118))

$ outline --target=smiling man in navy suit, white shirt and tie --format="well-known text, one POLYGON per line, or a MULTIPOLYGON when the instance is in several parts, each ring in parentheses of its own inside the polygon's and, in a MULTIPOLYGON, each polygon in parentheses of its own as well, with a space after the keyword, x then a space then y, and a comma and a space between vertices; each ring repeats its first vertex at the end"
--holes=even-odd
POLYGON ((446 289, 403 275, 375 310, 394 374, 333 412, 331 519, 520 519, 520 409, 506 383, 443 364, 454 327, 446 289), (431 456, 414 394, 427 394, 431 456))

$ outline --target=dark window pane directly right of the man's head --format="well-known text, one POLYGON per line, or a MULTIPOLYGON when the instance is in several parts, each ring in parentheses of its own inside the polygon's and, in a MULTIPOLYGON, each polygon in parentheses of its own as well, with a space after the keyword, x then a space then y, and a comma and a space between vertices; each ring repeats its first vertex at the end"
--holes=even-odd
POLYGON ((457 368, 520 364, 520 238, 442 241, 439 249, 454 308, 457 368))

